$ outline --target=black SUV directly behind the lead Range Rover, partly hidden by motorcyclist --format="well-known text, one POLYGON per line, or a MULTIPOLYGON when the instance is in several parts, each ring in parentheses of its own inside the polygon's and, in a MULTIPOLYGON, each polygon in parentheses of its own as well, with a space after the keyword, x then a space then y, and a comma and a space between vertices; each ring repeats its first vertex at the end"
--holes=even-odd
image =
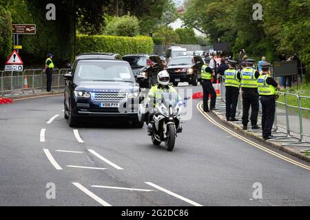
POLYGON ((136 82, 145 88, 151 88, 157 83, 157 74, 164 69, 158 55, 126 55, 123 60, 130 63, 136 82))

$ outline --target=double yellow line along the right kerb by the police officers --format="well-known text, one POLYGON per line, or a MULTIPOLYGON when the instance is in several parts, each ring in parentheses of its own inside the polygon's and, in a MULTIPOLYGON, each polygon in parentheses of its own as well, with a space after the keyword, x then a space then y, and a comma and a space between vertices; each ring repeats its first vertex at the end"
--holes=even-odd
POLYGON ((307 170, 310 170, 310 166, 301 164, 300 162, 296 162, 293 159, 290 159, 289 157, 285 157, 283 155, 280 155, 279 153, 276 153, 274 151, 269 150, 268 148, 266 148, 265 146, 262 146, 260 144, 256 144, 255 142, 252 142, 251 140, 247 139, 246 137, 243 137, 242 135, 239 135, 238 133, 234 132, 234 131, 230 131, 229 129, 227 129, 225 126, 223 126, 222 124, 216 122, 213 118, 211 118, 207 113, 205 113, 205 111, 203 111, 203 102, 199 102, 197 104, 197 109, 198 111, 200 111, 200 113, 207 118, 207 120, 209 120, 209 122, 211 122, 212 124, 218 126, 220 129, 223 129, 224 131, 226 131, 227 133, 230 133, 231 135, 233 135, 234 137, 237 137, 238 139, 247 142, 248 144, 251 144, 252 146, 255 146, 256 148, 259 148, 262 151, 265 151, 275 157, 278 157, 280 159, 284 159, 285 161, 294 164, 296 166, 300 166, 302 168, 305 168, 307 170))

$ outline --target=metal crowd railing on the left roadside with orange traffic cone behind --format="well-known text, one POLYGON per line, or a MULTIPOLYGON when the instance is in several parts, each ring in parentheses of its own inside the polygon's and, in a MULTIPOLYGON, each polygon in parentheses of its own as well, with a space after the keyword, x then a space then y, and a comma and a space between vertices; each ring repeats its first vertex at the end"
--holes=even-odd
MULTIPOLYGON (((65 86, 63 75, 70 69, 53 69, 52 88, 61 89, 65 86)), ((34 93, 46 88, 46 76, 43 69, 24 69, 23 72, 0 71, 0 96, 13 95, 14 92, 34 93)))

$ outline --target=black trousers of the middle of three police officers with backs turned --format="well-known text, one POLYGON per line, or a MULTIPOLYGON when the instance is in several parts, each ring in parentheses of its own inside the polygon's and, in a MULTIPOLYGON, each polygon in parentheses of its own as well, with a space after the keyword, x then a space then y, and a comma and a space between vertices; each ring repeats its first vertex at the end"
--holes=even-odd
POLYGON ((257 124, 259 100, 258 92, 242 92, 242 124, 247 125, 249 123, 249 108, 251 107, 251 125, 257 124))

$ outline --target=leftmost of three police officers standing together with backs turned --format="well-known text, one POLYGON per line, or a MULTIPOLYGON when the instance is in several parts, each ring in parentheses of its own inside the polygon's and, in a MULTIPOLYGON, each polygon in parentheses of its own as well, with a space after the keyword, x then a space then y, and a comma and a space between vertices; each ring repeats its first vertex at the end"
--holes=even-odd
POLYGON ((225 71, 225 87, 226 87, 226 118, 227 122, 237 122, 236 109, 238 104, 238 96, 240 89, 240 80, 238 80, 238 70, 236 70, 236 61, 227 61, 229 69, 225 71))

